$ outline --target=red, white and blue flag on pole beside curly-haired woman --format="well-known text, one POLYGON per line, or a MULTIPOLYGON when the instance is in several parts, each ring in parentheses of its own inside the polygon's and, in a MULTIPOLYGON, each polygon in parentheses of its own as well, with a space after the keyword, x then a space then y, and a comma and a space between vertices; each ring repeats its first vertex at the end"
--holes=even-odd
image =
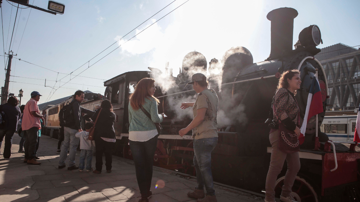
MULTIPOLYGON (((316 78, 314 76, 314 78, 316 78)), ((300 128, 299 142, 302 144, 305 139, 306 124, 312 116, 324 112, 323 109, 323 98, 321 96, 320 85, 318 78, 312 79, 309 95, 307 96, 306 111, 304 121, 300 128)), ((357 123, 357 122, 356 122, 357 123)), ((360 121, 359 121, 360 124, 360 121)))

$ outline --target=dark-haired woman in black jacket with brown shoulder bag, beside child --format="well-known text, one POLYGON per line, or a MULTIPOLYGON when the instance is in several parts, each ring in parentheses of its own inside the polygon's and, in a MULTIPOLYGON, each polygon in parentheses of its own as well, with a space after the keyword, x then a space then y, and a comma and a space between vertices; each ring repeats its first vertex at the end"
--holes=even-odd
POLYGON ((95 122, 96 117, 99 118, 95 125, 94 140, 96 145, 96 170, 93 173, 101 173, 103 167, 103 153, 105 153, 105 166, 106 172, 111 173, 112 163, 112 148, 115 146, 115 114, 110 100, 103 100, 101 102, 101 108, 96 110, 91 120, 95 122), (101 112, 100 112, 101 109, 101 112))

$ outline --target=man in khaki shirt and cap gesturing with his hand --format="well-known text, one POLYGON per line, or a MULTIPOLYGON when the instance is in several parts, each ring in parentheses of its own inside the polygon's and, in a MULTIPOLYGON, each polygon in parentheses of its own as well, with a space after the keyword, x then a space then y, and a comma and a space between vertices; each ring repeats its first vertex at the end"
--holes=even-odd
POLYGON ((179 135, 183 137, 190 130, 193 130, 197 184, 194 192, 189 192, 188 196, 197 198, 198 202, 217 202, 211 173, 211 152, 217 143, 216 118, 219 98, 213 89, 208 89, 208 82, 204 74, 194 74, 188 84, 193 84, 195 92, 199 93, 195 102, 181 103, 182 109, 192 106, 194 113, 193 121, 179 131, 179 135))

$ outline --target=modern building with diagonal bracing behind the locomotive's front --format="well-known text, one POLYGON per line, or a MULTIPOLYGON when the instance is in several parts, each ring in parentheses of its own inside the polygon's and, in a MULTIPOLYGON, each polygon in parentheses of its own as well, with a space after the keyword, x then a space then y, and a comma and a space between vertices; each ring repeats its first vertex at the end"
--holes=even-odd
POLYGON ((315 58, 327 75, 327 111, 355 110, 360 105, 360 47, 337 43, 321 49, 315 58))

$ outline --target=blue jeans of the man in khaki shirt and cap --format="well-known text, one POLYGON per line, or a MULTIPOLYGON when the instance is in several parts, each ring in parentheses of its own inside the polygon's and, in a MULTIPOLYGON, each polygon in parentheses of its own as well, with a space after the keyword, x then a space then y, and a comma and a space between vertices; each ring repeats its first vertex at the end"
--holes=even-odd
POLYGON ((217 144, 217 137, 194 139, 194 166, 196 170, 195 189, 206 188, 206 195, 215 195, 214 181, 211 173, 211 152, 217 144))

